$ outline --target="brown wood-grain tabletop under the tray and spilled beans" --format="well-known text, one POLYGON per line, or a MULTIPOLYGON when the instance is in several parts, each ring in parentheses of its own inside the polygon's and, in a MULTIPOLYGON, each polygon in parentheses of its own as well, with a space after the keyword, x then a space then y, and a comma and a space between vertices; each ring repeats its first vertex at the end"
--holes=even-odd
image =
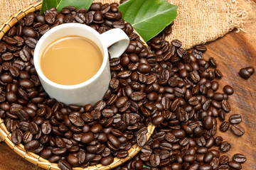
MULTIPOLYGON (((255 24, 256 25, 256 24, 255 24)), ((249 26, 250 27, 250 26, 249 26)), ((253 31, 253 30, 252 30, 253 31)), ((242 115, 242 125, 245 135, 236 137, 230 130, 223 133, 218 130, 217 135, 222 135, 225 141, 230 142, 232 148, 227 155, 242 153, 247 157, 247 162, 242 164, 242 169, 256 169, 256 74, 244 80, 238 77, 242 67, 256 67, 256 34, 228 33, 223 38, 206 45, 208 47, 204 57, 214 57, 218 62, 218 69, 223 73, 219 81, 220 91, 225 84, 230 84, 235 94, 230 96, 232 110, 226 115, 239 113, 242 115)), ((218 122, 218 128, 220 123, 218 122)), ((18 156, 5 142, 0 142, 0 170, 30 170, 41 169, 18 156)))

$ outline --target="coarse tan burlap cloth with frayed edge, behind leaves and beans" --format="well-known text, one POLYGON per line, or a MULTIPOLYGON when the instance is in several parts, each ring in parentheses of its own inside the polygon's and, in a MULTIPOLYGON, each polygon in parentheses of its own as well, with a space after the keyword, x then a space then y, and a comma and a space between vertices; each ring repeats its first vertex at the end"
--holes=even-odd
MULTIPOLYGON (((222 37, 230 30, 242 28, 247 12, 236 0, 168 0, 178 6, 178 16, 173 32, 166 39, 183 42, 183 48, 204 44, 222 37)), ((6 21, 18 9, 35 0, 0 0, 0 23, 6 21)), ((119 0, 95 0, 112 3, 119 0)))

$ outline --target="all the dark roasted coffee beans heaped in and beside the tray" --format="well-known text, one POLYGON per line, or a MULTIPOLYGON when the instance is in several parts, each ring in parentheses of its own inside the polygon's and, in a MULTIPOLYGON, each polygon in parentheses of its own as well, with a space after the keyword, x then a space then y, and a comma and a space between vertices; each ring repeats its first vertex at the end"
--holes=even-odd
MULTIPOLYGON (((206 47, 185 51, 182 43, 164 40, 171 26, 144 45, 124 23, 118 4, 94 3, 87 11, 73 6, 28 13, 0 42, 0 118, 14 144, 39 154, 60 169, 109 165, 114 157, 128 156, 136 144, 142 147, 134 159, 117 169, 241 169, 246 157, 220 157, 231 145, 215 137, 216 118, 230 112, 228 95, 218 92, 223 74, 206 47), (69 105, 49 98, 33 66, 33 51, 50 28, 62 23, 87 24, 99 33, 121 28, 129 36, 127 50, 110 60, 112 79, 102 101, 95 106, 69 105), (146 141, 146 126, 157 126, 146 141)), ((241 135, 239 115, 231 115, 231 130, 241 135), (232 117, 232 118, 231 118, 232 117)), ((230 127, 223 122, 221 130, 230 127)))

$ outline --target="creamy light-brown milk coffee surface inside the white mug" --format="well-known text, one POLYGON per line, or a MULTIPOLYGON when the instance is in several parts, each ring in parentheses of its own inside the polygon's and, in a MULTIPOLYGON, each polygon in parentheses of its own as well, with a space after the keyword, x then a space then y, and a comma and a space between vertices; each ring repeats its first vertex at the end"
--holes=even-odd
POLYGON ((40 67, 56 84, 81 84, 92 78, 103 61, 100 48, 87 38, 68 35, 58 38, 43 50, 40 67))

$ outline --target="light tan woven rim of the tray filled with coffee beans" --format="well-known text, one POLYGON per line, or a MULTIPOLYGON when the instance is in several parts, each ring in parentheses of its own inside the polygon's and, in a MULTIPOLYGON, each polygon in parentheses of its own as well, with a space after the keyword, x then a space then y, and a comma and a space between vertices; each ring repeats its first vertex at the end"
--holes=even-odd
MULTIPOLYGON (((26 13, 30 13, 36 10, 41 9, 42 2, 38 1, 35 4, 31 4, 30 6, 27 6, 26 8, 23 8, 19 10, 17 13, 14 14, 14 16, 11 16, 1 27, 0 27, 0 39, 7 33, 7 31, 14 26, 21 18, 26 17, 26 13)), ((142 39, 142 38, 141 38, 142 39)), ((145 42, 146 45, 146 42, 145 42)), ((146 133, 146 140, 149 140, 149 137, 151 134, 154 132, 155 126, 149 123, 147 130, 148 132, 146 133)), ((24 159, 28 160, 29 162, 36 164, 37 166, 42 167, 43 169, 49 169, 49 170, 55 170, 55 169, 60 169, 58 167, 58 164, 55 163, 50 163, 48 160, 43 159, 37 154, 33 154, 32 152, 27 152, 24 149, 24 146, 19 144, 19 145, 14 145, 13 142, 11 142, 11 132, 9 132, 6 129, 6 126, 4 125, 3 120, 0 118, 0 141, 3 140, 6 142, 11 149, 13 149, 17 154, 19 154, 21 157, 24 159)), ((108 166, 103 166, 102 164, 97 164, 95 166, 87 166, 86 168, 82 167, 74 167, 74 170, 87 170, 87 169, 100 169, 100 170, 107 170, 107 169, 113 169, 114 167, 119 166, 120 164, 123 164, 124 162, 127 162, 129 159, 132 159, 139 150, 142 149, 139 147, 137 144, 133 145, 131 149, 129 149, 129 155, 128 157, 124 159, 118 159, 117 157, 114 158, 114 162, 108 166)))

